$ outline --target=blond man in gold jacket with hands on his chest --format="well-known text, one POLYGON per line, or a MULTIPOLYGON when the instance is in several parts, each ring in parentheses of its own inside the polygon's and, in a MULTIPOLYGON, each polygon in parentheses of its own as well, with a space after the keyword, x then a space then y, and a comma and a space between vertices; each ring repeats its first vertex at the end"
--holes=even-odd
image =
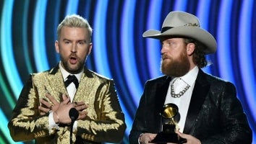
POLYGON ((61 60, 48 71, 30 75, 8 124, 13 140, 120 142, 126 124, 114 81, 85 67, 93 48, 90 24, 70 15, 57 34, 55 48, 61 60))

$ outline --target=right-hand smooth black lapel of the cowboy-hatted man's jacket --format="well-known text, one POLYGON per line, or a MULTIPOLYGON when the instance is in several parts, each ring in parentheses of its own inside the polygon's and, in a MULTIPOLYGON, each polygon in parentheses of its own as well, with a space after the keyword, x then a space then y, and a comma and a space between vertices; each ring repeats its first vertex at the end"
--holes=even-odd
POLYGON ((203 102, 205 101, 205 96, 208 94, 210 85, 205 79, 205 73, 200 69, 197 79, 195 81, 195 86, 192 92, 192 97, 189 103, 189 110, 187 112, 187 119, 184 126, 184 133, 189 134, 193 125, 195 125, 195 120, 200 112, 203 102))

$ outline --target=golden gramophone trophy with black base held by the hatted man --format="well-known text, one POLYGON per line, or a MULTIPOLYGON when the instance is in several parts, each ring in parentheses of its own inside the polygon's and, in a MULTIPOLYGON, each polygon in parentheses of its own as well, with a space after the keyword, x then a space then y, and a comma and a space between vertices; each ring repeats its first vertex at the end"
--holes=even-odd
POLYGON ((186 143, 187 140, 184 138, 180 138, 178 134, 176 134, 177 124, 174 121, 174 117, 179 113, 179 109, 176 104, 165 104, 163 106, 161 116, 165 119, 168 119, 168 123, 163 124, 163 131, 159 132, 156 135, 155 139, 150 143, 186 143))

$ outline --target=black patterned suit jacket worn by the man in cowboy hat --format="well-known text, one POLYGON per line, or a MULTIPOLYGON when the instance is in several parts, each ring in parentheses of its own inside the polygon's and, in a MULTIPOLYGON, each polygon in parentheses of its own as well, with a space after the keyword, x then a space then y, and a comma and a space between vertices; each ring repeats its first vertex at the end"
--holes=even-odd
MULTIPOLYGON (((138 143, 141 133, 161 132, 160 113, 170 81, 170 77, 161 76, 145 83, 129 134, 129 143, 138 143)), ((189 103, 184 133, 207 144, 251 144, 252 130, 242 104, 236 98, 234 84, 210 76, 200 69, 189 103)))

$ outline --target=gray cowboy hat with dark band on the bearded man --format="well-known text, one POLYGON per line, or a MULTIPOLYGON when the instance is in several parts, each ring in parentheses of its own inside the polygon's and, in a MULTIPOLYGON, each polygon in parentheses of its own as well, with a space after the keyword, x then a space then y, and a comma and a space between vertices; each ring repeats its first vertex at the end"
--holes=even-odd
POLYGON ((166 36, 189 37, 206 46, 205 54, 215 53, 217 43, 213 35, 200 28, 200 22, 193 14, 187 12, 170 12, 163 21, 162 30, 148 30, 142 37, 161 39, 166 36))

